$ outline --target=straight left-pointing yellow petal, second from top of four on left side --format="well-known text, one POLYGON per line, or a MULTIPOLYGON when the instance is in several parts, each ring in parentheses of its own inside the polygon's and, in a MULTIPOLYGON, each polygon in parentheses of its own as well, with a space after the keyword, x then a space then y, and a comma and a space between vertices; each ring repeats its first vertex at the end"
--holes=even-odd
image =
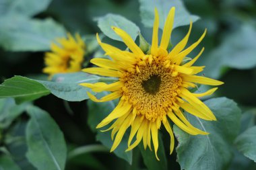
POLYGON ((94 75, 102 75, 107 77, 121 77, 121 73, 119 71, 113 71, 110 69, 104 69, 99 67, 86 68, 86 69, 83 69, 82 71, 86 73, 94 74, 94 75))

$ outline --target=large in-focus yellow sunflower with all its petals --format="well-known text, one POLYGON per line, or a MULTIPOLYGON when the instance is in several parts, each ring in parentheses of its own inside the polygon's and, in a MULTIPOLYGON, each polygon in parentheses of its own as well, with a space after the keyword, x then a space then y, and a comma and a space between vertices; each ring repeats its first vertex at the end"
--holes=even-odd
POLYGON ((222 85, 221 81, 196 75, 203 71, 204 67, 192 65, 199 58, 203 49, 193 60, 182 64, 183 58, 201 42, 206 30, 197 42, 185 48, 191 33, 191 22, 189 32, 185 38, 168 52, 166 48, 172 32, 174 11, 175 9, 172 7, 168 13, 160 46, 158 46, 159 18, 158 11, 155 10, 150 54, 144 54, 132 38, 120 28, 113 27, 113 30, 123 39, 131 52, 100 42, 97 34, 98 43, 113 60, 94 58, 91 62, 98 67, 84 69, 83 71, 107 77, 118 77, 119 80, 112 84, 82 83, 81 85, 90 87, 95 92, 113 92, 101 99, 97 99, 94 95, 88 93, 90 99, 96 102, 110 101, 121 97, 115 110, 96 127, 102 128, 115 120, 107 129, 112 130, 112 139, 116 134, 110 151, 117 148, 125 131, 131 126, 127 151, 137 146, 141 140, 145 149, 147 146, 151 149, 152 139, 156 158, 158 159, 158 130, 162 124, 170 134, 170 153, 174 148, 174 135, 169 120, 189 134, 208 134, 192 126, 181 109, 203 120, 216 120, 211 110, 198 97, 211 95, 217 88, 210 89, 205 93, 191 93, 188 90, 189 87, 196 87, 195 83, 222 85), (136 140, 131 144, 133 138, 136 138, 136 140))

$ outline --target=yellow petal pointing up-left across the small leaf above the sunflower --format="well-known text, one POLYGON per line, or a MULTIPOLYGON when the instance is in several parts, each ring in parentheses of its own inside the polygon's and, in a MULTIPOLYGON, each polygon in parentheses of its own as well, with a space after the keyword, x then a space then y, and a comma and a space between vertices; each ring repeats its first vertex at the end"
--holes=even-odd
POLYGON ((117 27, 112 27, 112 28, 115 31, 115 33, 123 39, 123 42, 125 42, 127 47, 132 52, 134 52, 137 55, 141 55, 141 56, 144 55, 142 50, 139 48, 139 46, 137 46, 137 44, 135 44, 135 42, 133 41, 133 38, 131 38, 131 36, 129 36, 129 34, 127 34, 124 30, 121 30, 120 28, 117 28, 117 27))

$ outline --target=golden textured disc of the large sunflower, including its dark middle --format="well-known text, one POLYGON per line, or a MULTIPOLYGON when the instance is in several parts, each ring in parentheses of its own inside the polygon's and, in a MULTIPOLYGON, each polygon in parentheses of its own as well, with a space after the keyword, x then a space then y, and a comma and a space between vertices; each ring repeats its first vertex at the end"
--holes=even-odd
POLYGON ((139 71, 126 72, 123 81, 123 99, 136 108, 137 115, 151 122, 163 120, 168 110, 175 108, 182 77, 173 76, 172 69, 164 67, 162 60, 137 65, 139 71))

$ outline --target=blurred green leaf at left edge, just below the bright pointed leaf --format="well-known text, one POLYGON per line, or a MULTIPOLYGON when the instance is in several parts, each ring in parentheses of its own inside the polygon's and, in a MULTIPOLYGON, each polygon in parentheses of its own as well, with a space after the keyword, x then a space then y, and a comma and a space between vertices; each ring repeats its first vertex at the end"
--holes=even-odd
POLYGON ((14 99, 0 99, 0 129, 7 128, 15 118, 20 116, 29 103, 16 105, 14 99))

